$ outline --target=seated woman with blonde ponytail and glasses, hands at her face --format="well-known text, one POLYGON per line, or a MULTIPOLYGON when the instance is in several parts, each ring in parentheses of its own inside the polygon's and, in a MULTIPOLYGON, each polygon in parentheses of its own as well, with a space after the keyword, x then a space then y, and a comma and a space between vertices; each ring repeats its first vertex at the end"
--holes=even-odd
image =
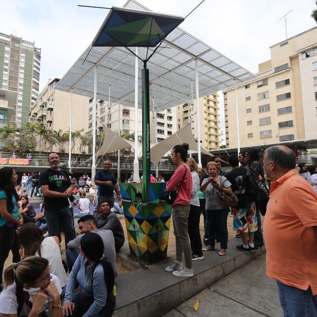
POLYGON ((50 317, 62 317, 58 277, 51 274, 47 259, 28 257, 6 267, 4 289, 0 294, 2 317, 40 316, 49 310, 50 317))

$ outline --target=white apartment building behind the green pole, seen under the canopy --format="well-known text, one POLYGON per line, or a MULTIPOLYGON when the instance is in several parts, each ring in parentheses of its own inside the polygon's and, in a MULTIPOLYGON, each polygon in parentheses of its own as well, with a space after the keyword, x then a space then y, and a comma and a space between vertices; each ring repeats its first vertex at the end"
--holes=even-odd
MULTIPOLYGON (((96 128, 97 134, 102 133, 104 127, 113 132, 120 130, 120 135, 132 134, 135 129, 134 107, 120 104, 108 107, 108 102, 99 100, 96 108, 96 128)), ((176 132, 176 113, 172 109, 160 112, 150 112, 150 137, 151 143, 157 143, 166 139, 176 132)), ((138 135, 142 136, 142 110, 138 110, 138 135)), ((89 106, 89 131, 93 125, 93 99, 90 99, 89 106)))

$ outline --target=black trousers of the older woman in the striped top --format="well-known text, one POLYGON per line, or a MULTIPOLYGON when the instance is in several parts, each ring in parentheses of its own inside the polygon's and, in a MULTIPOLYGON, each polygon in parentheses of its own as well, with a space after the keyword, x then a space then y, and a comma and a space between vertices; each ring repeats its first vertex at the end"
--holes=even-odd
POLYGON ((214 240, 217 234, 217 238, 220 240, 220 248, 228 248, 228 211, 228 208, 206 210, 209 225, 209 245, 211 247, 214 247, 214 240))

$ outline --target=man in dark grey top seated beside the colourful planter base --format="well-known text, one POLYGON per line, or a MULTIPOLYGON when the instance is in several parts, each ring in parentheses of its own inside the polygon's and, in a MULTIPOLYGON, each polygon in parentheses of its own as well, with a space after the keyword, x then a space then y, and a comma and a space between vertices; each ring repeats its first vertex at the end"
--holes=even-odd
POLYGON ((118 252, 124 244, 124 232, 121 222, 114 211, 110 211, 107 202, 101 203, 96 215, 98 229, 109 229, 113 233, 115 251, 118 252))

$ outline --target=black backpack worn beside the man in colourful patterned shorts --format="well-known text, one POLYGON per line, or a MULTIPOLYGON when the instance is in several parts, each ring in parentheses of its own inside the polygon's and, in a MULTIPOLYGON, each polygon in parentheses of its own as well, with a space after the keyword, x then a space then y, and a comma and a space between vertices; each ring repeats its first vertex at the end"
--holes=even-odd
POLYGON ((269 200, 269 191, 259 179, 259 174, 252 168, 246 167, 246 194, 249 202, 255 202, 262 215, 266 213, 266 205, 269 200))

